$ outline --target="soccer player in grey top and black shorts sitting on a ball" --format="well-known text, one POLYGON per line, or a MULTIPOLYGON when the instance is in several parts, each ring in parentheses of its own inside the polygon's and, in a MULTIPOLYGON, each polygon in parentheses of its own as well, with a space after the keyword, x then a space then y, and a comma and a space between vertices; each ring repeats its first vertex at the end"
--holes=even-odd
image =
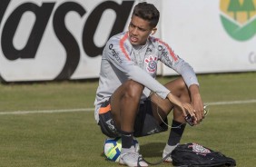
MULTIPOLYGON (((108 137, 122 137, 120 163, 137 166, 134 137, 168 130, 167 115, 173 110, 172 128, 164 157, 180 143, 191 114, 193 123, 203 119, 199 83, 192 69, 172 48, 155 38, 159 11, 152 4, 139 3, 127 32, 116 34, 103 49, 99 86, 95 98, 95 119, 108 137), (156 77, 157 63, 172 68, 177 79, 162 85, 156 77)), ((172 162, 168 157, 167 162, 172 162)), ((140 161, 141 166, 148 166, 140 161)))

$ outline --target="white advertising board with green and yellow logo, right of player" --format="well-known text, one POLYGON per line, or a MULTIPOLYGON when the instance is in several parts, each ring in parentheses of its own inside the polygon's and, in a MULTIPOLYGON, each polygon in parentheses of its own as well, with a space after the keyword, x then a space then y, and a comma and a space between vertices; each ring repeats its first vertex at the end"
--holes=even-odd
POLYGON ((256 71, 256 0, 162 1, 162 13, 162 39, 196 73, 256 71))

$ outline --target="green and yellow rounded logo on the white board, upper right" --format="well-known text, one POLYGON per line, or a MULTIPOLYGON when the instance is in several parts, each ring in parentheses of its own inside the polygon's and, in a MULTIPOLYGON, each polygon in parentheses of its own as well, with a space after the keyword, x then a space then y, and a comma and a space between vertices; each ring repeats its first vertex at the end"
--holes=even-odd
POLYGON ((246 41, 256 34, 256 0, 221 0, 221 20, 235 40, 246 41))

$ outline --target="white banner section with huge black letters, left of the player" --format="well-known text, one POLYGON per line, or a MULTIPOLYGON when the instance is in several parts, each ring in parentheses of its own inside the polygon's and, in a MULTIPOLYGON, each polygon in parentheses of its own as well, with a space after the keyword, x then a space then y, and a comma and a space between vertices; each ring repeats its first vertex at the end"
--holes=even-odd
MULTIPOLYGON (((94 3, 89 0, 67 2, 43 0, 41 4, 35 0, 34 2, 1 1, 0 35, 2 54, 0 53, 0 62, 2 64, 0 63, 0 74, 2 79, 7 82, 71 79, 79 64, 85 62, 84 64, 90 66, 89 60, 93 61, 95 57, 102 54, 104 43, 107 40, 97 39, 103 40, 103 43, 101 43, 103 45, 95 44, 94 35, 96 31, 101 29, 103 31, 101 34, 109 32, 108 38, 113 34, 123 32, 128 19, 130 19, 129 15, 133 4, 134 1, 122 0, 98 0, 94 3), (94 4, 94 6, 91 4, 94 4), (106 26, 110 18, 103 22, 102 16, 108 10, 114 11, 115 17, 113 19, 115 20, 112 22, 113 25, 106 26), (27 24, 32 25, 32 27, 20 27, 20 25, 27 23, 25 19, 28 19, 28 17, 25 14, 28 12, 30 15, 34 15, 35 18, 33 25, 31 23, 27 24), (73 21, 77 20, 77 15, 81 22, 85 18, 84 26, 75 27, 72 25, 73 21), (99 25, 100 23, 103 25, 99 25), (69 25, 75 29, 70 29, 69 25), (23 28, 24 31, 30 30, 30 33, 25 33, 29 35, 26 37, 27 40, 20 39, 22 47, 14 44, 14 41, 18 41, 15 38, 18 35, 17 33, 23 32, 18 31, 19 28, 23 28), (38 61, 38 59, 41 60, 38 61), (54 64, 51 64, 51 62, 54 62, 54 64), (41 69, 35 73, 39 67, 41 69), (50 73, 49 78, 47 78, 47 73, 50 73)), ((78 23, 77 25, 82 24, 78 23)), ((97 71, 94 68, 94 77, 98 76, 97 71)), ((90 71, 85 71, 84 74, 86 73, 91 74, 90 71)))

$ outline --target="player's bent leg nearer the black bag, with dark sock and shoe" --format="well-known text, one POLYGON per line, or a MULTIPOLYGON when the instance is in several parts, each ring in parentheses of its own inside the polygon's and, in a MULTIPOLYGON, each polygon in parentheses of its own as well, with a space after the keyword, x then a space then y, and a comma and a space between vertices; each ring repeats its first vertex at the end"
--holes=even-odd
MULTIPOLYGON (((182 78, 178 78, 170 83, 167 83, 165 84, 165 86, 171 91, 172 94, 177 96, 183 103, 191 103, 191 97, 188 88, 182 78)), ((162 120, 164 120, 173 109, 172 127, 179 127, 171 129, 168 141, 162 152, 163 158, 167 156, 170 152, 172 152, 173 149, 177 146, 177 144, 179 144, 186 124, 183 124, 185 123, 185 119, 182 116, 182 111, 178 110, 178 108, 176 108, 172 103, 170 103, 169 100, 162 100, 162 98, 153 93, 152 101, 153 115, 158 120, 159 123, 162 123, 162 120), (161 115, 162 120, 160 119, 157 112, 161 115)), ((172 162, 172 157, 168 157, 165 161, 172 162)))

